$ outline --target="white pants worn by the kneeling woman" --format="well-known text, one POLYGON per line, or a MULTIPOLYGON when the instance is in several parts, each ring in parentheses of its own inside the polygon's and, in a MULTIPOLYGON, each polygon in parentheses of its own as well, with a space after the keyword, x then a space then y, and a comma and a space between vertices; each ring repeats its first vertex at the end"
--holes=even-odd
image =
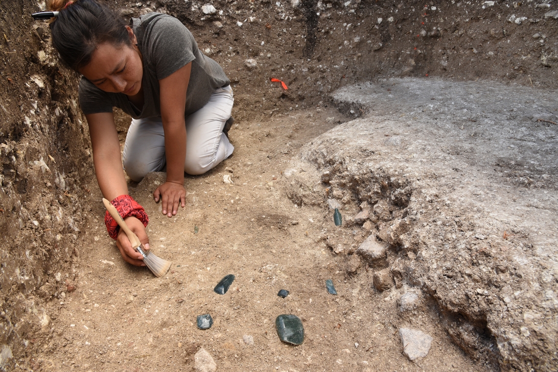
MULTIPOLYGON (((233 90, 225 86, 215 90, 204 107, 186 117, 186 173, 202 175, 233 153, 234 147, 223 133, 233 103, 233 90)), ((166 157, 161 117, 132 119, 122 162, 128 177, 138 182, 148 172, 162 170, 166 157)))

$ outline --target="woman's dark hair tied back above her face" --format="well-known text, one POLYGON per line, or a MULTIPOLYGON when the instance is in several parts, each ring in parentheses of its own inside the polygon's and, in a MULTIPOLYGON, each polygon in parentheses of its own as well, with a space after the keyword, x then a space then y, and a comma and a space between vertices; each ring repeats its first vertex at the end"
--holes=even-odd
POLYGON ((71 69, 89 64, 99 44, 131 45, 126 22, 95 0, 51 0, 58 17, 50 23, 52 45, 71 69))

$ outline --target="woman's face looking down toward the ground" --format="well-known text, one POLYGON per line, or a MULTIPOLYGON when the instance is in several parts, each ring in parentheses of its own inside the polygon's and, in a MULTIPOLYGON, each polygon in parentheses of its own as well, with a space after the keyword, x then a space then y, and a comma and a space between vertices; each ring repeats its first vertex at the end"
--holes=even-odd
POLYGON ((101 90, 136 95, 141 89, 143 63, 136 36, 131 28, 126 28, 132 45, 99 44, 89 64, 79 72, 101 90))

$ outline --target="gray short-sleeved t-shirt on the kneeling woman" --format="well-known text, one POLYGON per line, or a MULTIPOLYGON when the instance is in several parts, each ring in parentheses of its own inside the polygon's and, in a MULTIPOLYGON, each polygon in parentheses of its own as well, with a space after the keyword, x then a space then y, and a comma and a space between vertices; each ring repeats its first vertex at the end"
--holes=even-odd
POLYGON ((84 114, 112 112, 118 107, 134 119, 161 115, 159 81, 192 62, 190 82, 186 93, 185 116, 209 101, 217 88, 227 86, 230 80, 217 62, 198 49, 191 32, 174 17, 148 13, 132 18, 132 29, 143 56, 143 109, 139 110, 123 93, 100 90, 81 77, 79 104, 84 114))

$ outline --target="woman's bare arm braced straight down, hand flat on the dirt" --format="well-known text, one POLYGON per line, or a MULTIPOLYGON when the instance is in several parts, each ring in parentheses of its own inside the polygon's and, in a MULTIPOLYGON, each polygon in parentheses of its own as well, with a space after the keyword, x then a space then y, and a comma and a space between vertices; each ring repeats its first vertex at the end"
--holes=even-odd
POLYGON ((155 201, 161 199, 162 212, 171 217, 176 215, 179 204, 184 207, 184 162, 186 160, 186 125, 184 110, 186 91, 190 81, 192 63, 159 80, 161 90, 161 118, 165 131, 165 153, 167 158, 167 181, 153 192, 155 201))

